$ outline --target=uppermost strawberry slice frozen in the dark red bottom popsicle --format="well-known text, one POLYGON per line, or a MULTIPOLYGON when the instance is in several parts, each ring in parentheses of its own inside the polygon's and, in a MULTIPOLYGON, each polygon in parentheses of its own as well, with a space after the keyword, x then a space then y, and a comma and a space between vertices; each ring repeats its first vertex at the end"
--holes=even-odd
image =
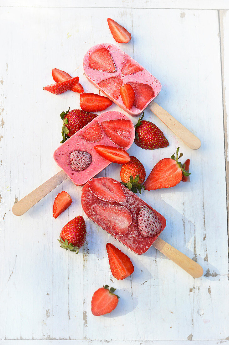
POLYGON ((114 203, 123 203, 126 201, 126 195, 119 182, 109 177, 93 178, 89 182, 91 193, 104 201, 113 201, 114 203))

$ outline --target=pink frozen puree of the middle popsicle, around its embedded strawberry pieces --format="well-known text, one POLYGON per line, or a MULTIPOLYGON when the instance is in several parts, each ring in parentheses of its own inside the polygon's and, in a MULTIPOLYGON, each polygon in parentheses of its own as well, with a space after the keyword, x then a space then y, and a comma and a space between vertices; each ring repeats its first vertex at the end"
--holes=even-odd
MULTIPOLYGON (((99 154, 96 153, 94 150, 95 145, 108 145, 108 146, 114 146, 119 147, 116 145, 103 131, 101 127, 101 122, 108 121, 108 120, 116 120, 116 119, 123 119, 125 121, 128 120, 128 145, 126 147, 122 147, 125 150, 127 150, 134 142, 135 137, 135 128, 133 125, 133 122, 123 113, 118 111, 107 111, 102 113, 101 115, 98 115, 96 118, 94 118, 88 125, 80 129, 76 134, 74 134, 72 137, 67 139, 58 149, 55 150, 53 157, 56 163, 61 167, 61 169, 64 170, 64 172, 67 174, 67 176, 72 180, 72 182, 76 186, 82 186, 87 181, 89 181, 92 177, 94 177, 96 174, 98 174, 101 170, 106 168, 109 164, 111 164, 110 161, 103 158, 99 154), (102 138, 98 141, 86 141, 80 137, 80 135, 85 135, 86 133, 89 133, 91 135, 90 128, 94 126, 100 126, 102 131, 102 138), (88 152, 88 154, 91 155, 92 161, 91 164, 86 167, 83 171, 74 171, 70 164, 70 155, 73 151, 79 150, 83 152, 88 152)), ((125 122, 124 121, 124 122, 125 122)), ((125 122, 127 123, 127 122, 125 122)), ((121 130, 122 132, 122 130, 121 130)), ((118 130, 118 134, 120 134, 118 130)), ((122 133, 121 133, 122 134, 122 133)))

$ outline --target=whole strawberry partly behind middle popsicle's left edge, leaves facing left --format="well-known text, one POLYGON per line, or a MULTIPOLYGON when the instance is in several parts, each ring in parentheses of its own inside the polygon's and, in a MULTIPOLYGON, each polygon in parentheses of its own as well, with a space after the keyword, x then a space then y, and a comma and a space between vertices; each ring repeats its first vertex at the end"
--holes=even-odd
POLYGON ((62 127, 62 137, 61 143, 66 141, 70 138, 73 134, 75 134, 78 130, 89 124, 97 114, 92 114, 91 112, 86 112, 81 109, 69 109, 66 112, 62 112, 60 117, 64 121, 62 127))

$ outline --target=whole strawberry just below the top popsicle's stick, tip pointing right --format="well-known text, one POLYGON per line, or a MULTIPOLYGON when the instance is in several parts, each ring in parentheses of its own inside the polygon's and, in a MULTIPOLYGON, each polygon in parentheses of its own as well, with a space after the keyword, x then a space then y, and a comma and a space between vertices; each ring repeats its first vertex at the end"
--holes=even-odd
POLYGON ((144 113, 135 125, 135 144, 145 150, 167 147, 169 142, 160 128, 154 125, 153 122, 142 121, 143 117, 144 113))

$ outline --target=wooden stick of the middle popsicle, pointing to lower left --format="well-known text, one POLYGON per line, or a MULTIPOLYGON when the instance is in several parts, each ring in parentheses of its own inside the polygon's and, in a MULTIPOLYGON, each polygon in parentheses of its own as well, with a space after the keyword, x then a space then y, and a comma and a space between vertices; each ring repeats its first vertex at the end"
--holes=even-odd
POLYGON ((31 193, 19 200, 12 207, 12 212, 15 216, 21 216, 28 211, 32 206, 38 203, 45 195, 49 194, 54 188, 59 186, 67 175, 63 170, 59 171, 56 175, 51 177, 48 181, 44 182, 41 186, 34 189, 31 193))

